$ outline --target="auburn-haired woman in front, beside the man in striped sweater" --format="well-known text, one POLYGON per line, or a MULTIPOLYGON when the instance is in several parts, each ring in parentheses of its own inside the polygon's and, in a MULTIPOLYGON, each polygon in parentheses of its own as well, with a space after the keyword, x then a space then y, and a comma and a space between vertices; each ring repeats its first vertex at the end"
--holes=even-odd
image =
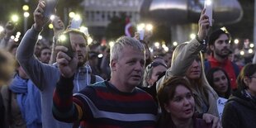
POLYGON ((159 128, 210 128, 206 121, 196 118, 195 99, 191 85, 183 77, 168 79, 158 92, 162 115, 159 118, 159 128))

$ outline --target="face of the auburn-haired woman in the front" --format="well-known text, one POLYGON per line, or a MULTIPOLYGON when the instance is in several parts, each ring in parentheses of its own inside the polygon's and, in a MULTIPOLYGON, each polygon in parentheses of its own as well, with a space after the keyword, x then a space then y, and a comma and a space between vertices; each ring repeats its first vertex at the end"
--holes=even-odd
POLYGON ((175 89, 173 99, 164 105, 173 120, 187 120, 194 114, 195 101, 192 92, 183 85, 178 85, 175 89))

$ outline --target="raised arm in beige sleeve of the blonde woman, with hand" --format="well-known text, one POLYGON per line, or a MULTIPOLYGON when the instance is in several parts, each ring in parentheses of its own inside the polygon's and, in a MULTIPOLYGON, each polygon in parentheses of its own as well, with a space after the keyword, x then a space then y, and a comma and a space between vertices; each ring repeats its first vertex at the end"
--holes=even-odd
MULTIPOLYGON (((172 76, 185 76, 187 68, 192 64, 193 60, 197 58, 200 50, 204 48, 202 40, 206 39, 207 33, 210 29, 208 17, 205 15, 205 9, 201 12, 201 17, 198 21, 197 38, 190 40, 190 42, 183 47, 183 50, 174 59, 172 66, 166 71, 164 77, 157 82, 157 88, 164 81, 172 76)), ((173 53, 175 54, 175 53, 173 53)))

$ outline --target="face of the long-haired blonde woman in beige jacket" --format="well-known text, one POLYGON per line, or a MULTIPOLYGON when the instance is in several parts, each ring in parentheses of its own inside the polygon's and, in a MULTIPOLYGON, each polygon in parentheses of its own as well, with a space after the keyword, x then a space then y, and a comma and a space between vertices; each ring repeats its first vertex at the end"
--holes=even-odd
POLYGON ((186 76, 189 79, 197 79, 201 76, 201 61, 200 59, 195 59, 190 67, 187 69, 186 76))

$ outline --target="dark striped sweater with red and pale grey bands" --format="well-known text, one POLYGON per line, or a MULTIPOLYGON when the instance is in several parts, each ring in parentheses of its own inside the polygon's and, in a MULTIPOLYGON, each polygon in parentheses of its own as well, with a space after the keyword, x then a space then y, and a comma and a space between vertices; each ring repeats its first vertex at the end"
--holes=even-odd
POLYGON ((53 114, 59 121, 86 121, 87 127, 154 127, 157 105, 148 93, 135 88, 120 92, 99 82, 73 94, 73 78, 60 78, 54 93, 53 114))

